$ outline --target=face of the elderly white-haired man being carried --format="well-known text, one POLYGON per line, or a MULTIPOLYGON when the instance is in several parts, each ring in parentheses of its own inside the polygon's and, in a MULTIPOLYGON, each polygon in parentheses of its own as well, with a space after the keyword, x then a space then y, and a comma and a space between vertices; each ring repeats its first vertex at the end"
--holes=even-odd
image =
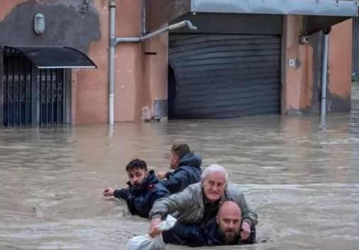
POLYGON ((202 181, 202 187, 206 198, 211 203, 219 200, 226 188, 225 174, 222 172, 212 172, 202 181))

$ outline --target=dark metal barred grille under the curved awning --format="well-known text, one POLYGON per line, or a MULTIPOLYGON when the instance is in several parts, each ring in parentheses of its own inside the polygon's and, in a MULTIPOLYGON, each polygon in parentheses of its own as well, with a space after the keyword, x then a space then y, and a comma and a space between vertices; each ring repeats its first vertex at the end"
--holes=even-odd
POLYGON ((68 78, 65 69, 37 69, 5 47, 4 126, 64 124, 68 78))

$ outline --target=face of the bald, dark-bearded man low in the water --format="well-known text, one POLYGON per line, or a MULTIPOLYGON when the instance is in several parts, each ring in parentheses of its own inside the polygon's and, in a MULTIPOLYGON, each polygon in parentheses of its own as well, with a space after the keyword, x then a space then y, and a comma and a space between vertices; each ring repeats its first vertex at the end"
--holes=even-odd
POLYGON ((239 238, 241 215, 238 215, 238 212, 236 214, 234 212, 221 212, 216 220, 226 244, 234 244, 239 238))

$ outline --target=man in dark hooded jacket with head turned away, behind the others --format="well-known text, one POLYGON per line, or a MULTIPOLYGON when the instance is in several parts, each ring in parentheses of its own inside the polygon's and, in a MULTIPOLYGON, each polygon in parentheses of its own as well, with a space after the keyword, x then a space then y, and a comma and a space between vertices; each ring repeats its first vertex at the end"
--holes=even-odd
POLYGON ((170 166, 175 171, 158 172, 158 178, 170 193, 178 193, 190 184, 201 181, 201 163, 199 155, 194 154, 187 144, 174 144, 171 148, 170 166))

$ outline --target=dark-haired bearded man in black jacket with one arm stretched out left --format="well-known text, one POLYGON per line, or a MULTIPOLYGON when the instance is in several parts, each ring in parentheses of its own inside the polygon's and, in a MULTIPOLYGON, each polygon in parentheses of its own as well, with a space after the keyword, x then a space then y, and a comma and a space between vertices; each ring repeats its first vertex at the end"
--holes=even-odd
POLYGON ((155 176, 153 170, 147 170, 147 164, 140 159, 134 159, 126 166, 128 174, 128 188, 106 188, 102 194, 105 197, 114 195, 126 200, 128 210, 132 215, 148 217, 153 203, 159 198, 170 195, 155 176))

